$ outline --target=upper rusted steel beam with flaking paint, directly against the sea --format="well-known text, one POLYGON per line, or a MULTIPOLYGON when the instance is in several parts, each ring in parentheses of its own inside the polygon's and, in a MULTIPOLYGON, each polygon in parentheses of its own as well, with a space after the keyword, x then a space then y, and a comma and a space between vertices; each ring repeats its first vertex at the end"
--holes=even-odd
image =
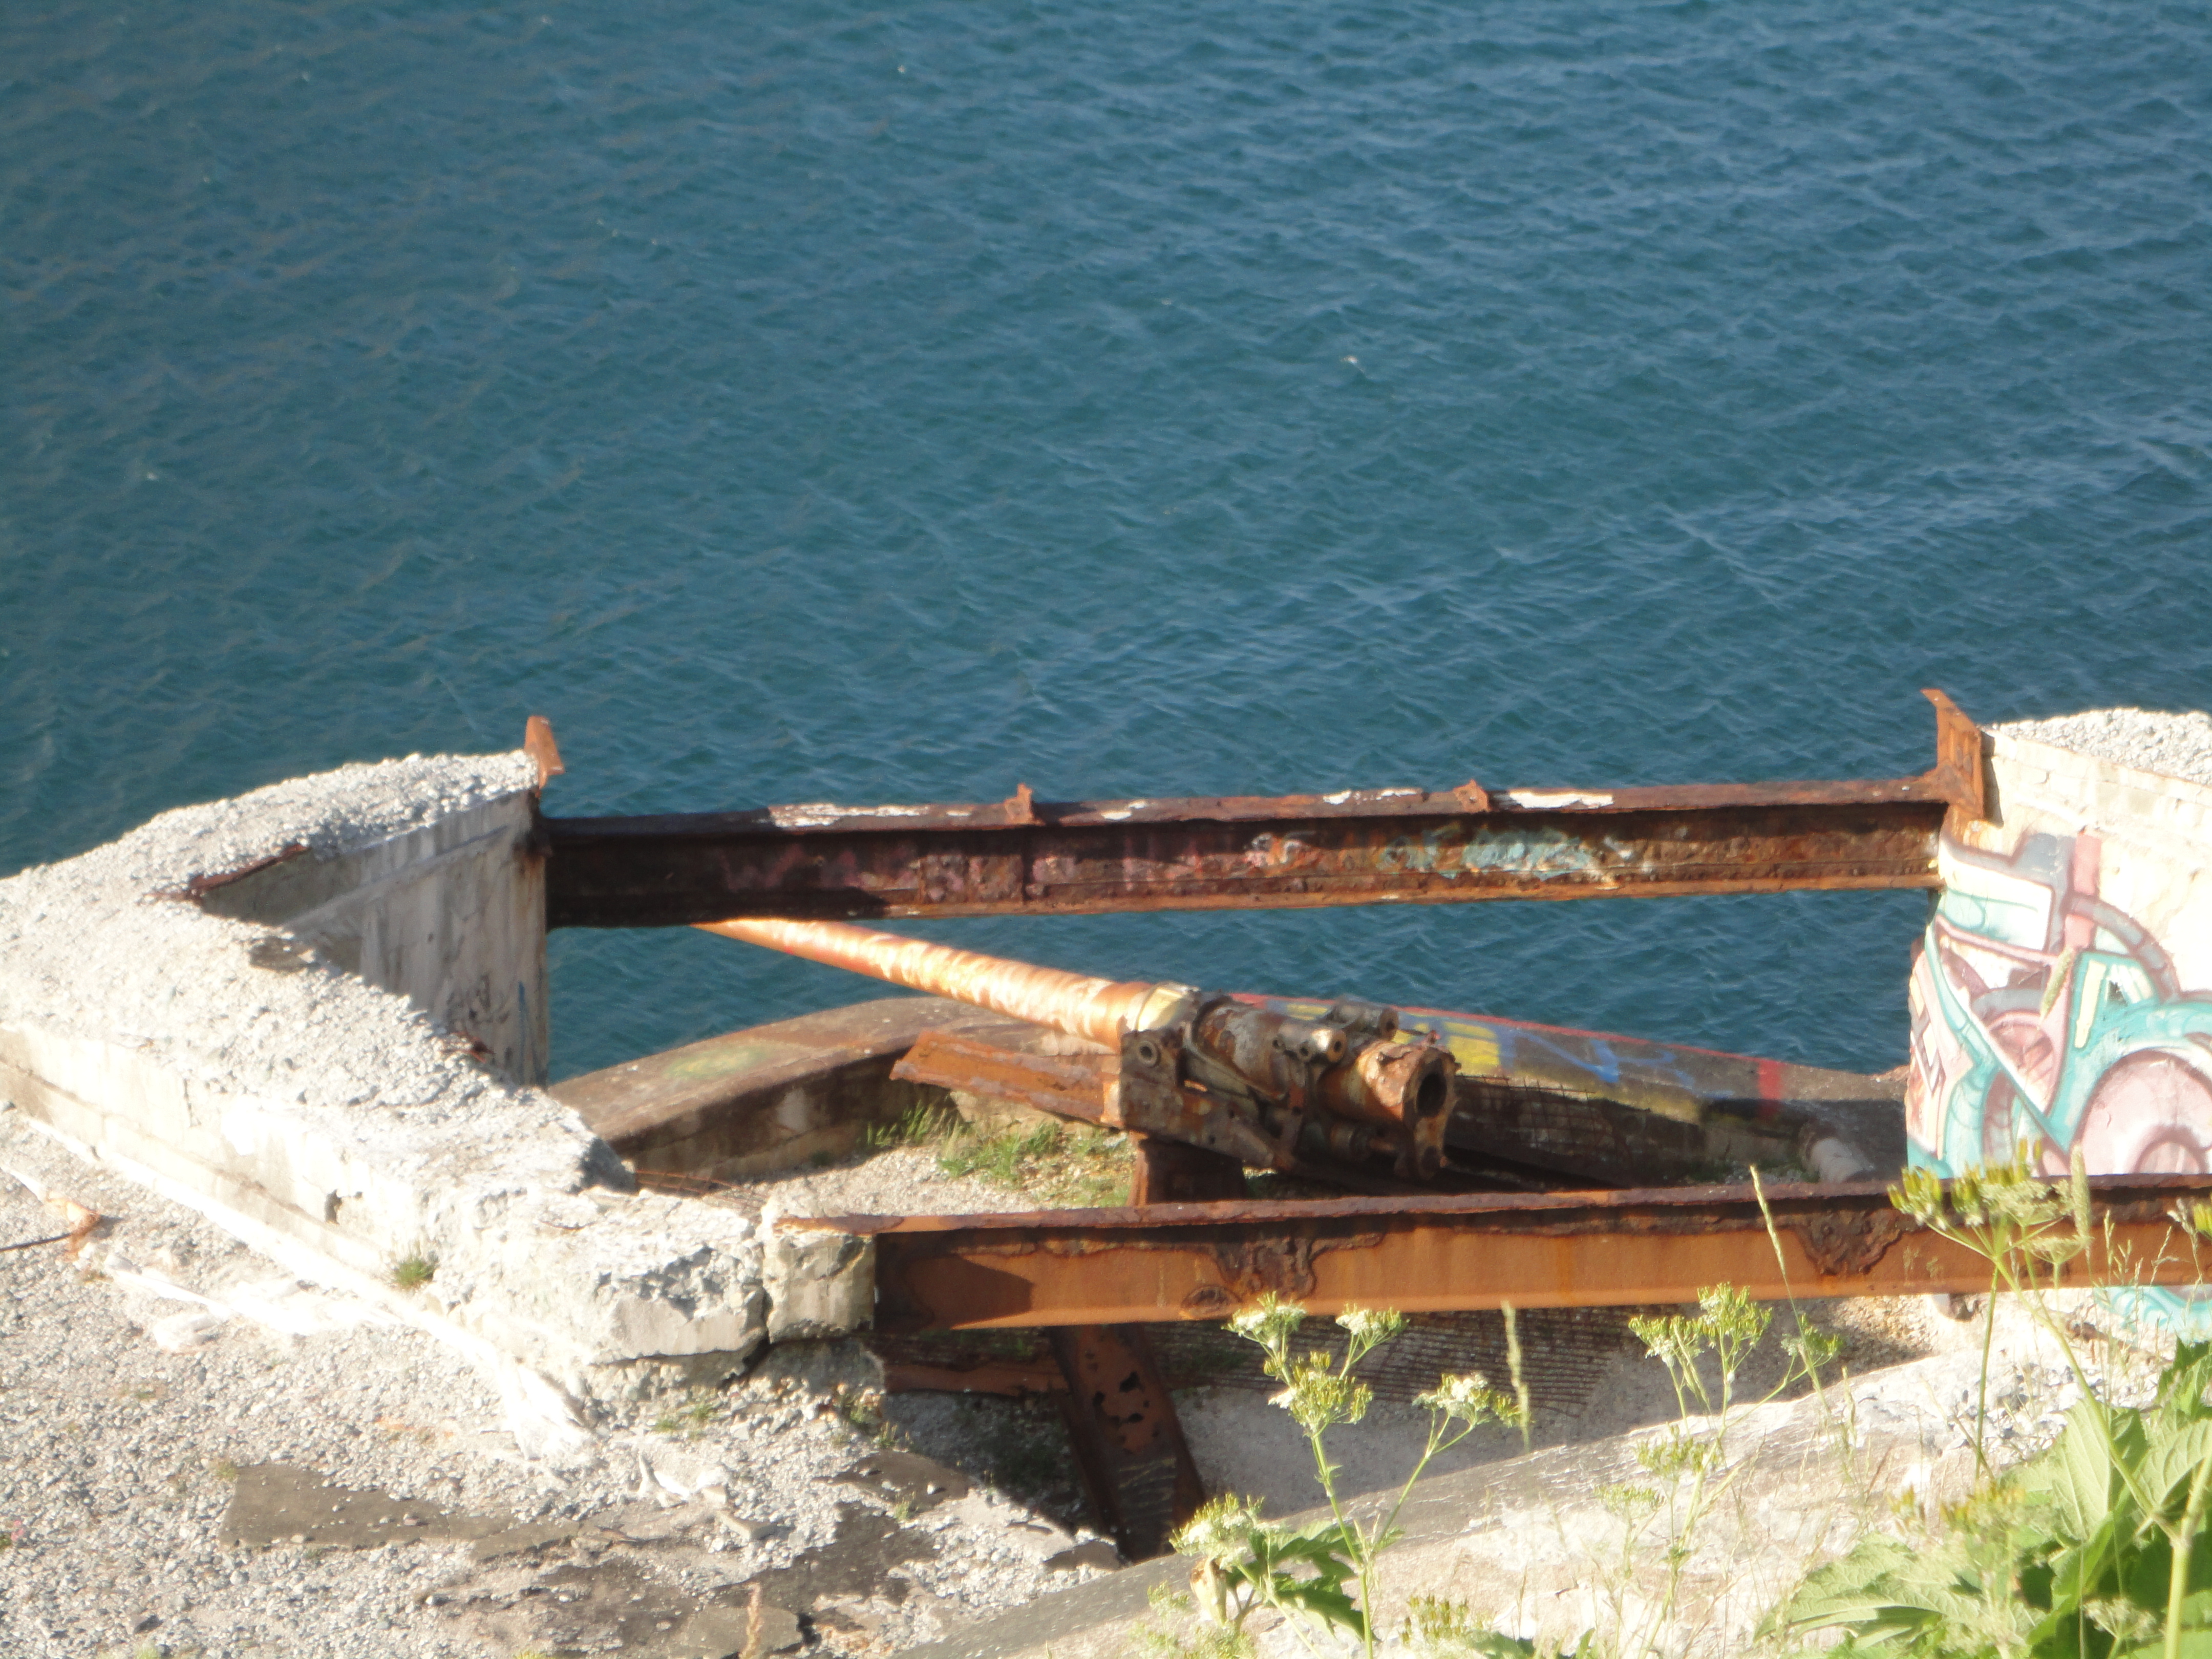
POLYGON ((1024 787, 989 805, 544 818, 546 925, 1933 887, 1944 814, 1982 816, 1982 739, 1929 697, 1936 768, 1871 783, 1057 803, 1024 787))

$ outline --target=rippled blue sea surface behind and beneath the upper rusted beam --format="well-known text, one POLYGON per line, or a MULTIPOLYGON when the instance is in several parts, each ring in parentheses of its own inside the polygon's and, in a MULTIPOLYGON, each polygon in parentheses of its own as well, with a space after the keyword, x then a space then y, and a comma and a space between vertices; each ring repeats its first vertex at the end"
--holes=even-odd
MULTIPOLYGON (((0 7, 0 872, 549 812, 1889 776, 2201 708, 2212 9, 0 7)), ((1905 1055, 1916 894, 945 922, 1905 1055)), ((874 991, 553 938, 555 1075, 874 991)))

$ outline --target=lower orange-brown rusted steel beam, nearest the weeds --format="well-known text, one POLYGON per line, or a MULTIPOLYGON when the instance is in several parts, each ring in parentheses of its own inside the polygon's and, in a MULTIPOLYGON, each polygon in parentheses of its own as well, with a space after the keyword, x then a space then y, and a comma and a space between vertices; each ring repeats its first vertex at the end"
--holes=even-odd
MULTIPOLYGON (((2197 1283, 2170 1221, 2192 1175, 2090 1179, 2110 1219, 2073 1283, 2197 1283)), ((876 1243, 876 1327, 993 1329, 1225 1318, 1261 1292, 1316 1314, 1619 1307, 1741 1285, 1761 1301, 1989 1287, 1989 1263, 1891 1208, 1880 1183, 1772 1186, 1776 1263, 1745 1186, 1276 1203, 1168 1203, 980 1217, 816 1217, 876 1243)))

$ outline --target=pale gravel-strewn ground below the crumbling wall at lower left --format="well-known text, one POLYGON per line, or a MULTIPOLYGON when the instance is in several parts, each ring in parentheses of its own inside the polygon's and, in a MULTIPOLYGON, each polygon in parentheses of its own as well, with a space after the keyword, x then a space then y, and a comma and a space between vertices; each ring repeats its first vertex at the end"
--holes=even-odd
MULTIPOLYGON (((192 1345, 175 1321, 210 1310, 148 1287, 170 1283, 230 1307, 257 1305, 241 1294, 252 1285, 265 1305, 279 1270, 199 1214, 80 1164, 22 1113, 0 1110, 0 1166, 106 1217, 77 1261, 60 1243, 0 1252, 0 1652, 9 1659, 128 1655, 142 1644, 208 1659, 509 1659, 524 1646, 515 1621, 555 1599, 533 1584, 542 1590, 553 1575, 619 1568, 708 1597, 761 1575, 774 1582, 794 1564, 803 1571, 834 1553, 856 1515, 876 1517, 869 1526, 891 1537, 891 1551, 883 1571, 865 1559, 854 1568, 867 1590, 847 1582, 836 1617, 821 1615, 814 1639, 834 1652, 927 1641, 1097 1571, 1048 1566, 1093 1535, 980 1482, 902 1513, 911 1506, 896 1493, 843 1480, 898 1438, 858 1345, 776 1347, 723 1389, 602 1402, 588 1447, 560 1464, 529 1460, 484 1378, 365 1305, 276 1296, 305 1296, 321 1318, 294 1325, 314 1329, 285 1334, 232 1314, 208 1321, 210 1340, 192 1345), (184 1352, 159 1347, 157 1329, 184 1352), (522 1568, 436 1542, 228 1546, 230 1482, 263 1462, 476 1515, 593 1531, 522 1568)), ((66 1225, 0 1172, 0 1245, 66 1225)), ((940 1416, 947 1431, 975 1427, 940 1416)), ((916 1451, 960 1455, 958 1444, 929 1442, 920 1418, 925 1436, 907 1436, 916 1451)))

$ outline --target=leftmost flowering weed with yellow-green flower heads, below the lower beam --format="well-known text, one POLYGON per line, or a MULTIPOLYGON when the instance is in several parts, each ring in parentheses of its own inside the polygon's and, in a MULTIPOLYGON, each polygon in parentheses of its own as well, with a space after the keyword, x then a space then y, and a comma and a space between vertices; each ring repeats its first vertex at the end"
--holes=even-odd
POLYGON ((1272 1402, 1305 1433, 1329 1517, 1292 1528, 1265 1520, 1250 1498, 1223 1495, 1190 1517, 1175 1535, 1175 1548, 1197 1557, 1190 1584, 1208 1624, 1243 1632, 1252 1613, 1274 1608, 1294 1619, 1301 1641, 1307 1628, 1343 1628, 1358 1639, 1367 1659, 1374 1659, 1376 1630, 1367 1608, 1376 1606, 1378 1557, 1398 1537, 1398 1513, 1411 1498, 1413 1484, 1440 1453, 1451 1451, 1480 1425, 1517 1427, 1522 1405, 1475 1374, 1438 1378, 1436 1389, 1418 1400, 1429 1411, 1429 1438, 1413 1473, 1378 1517, 1363 1522, 1345 1509, 1336 1491, 1338 1467, 1329 1460, 1327 1433, 1367 1416, 1374 1389, 1352 1371, 1405 1329, 1405 1316, 1387 1310, 1338 1314, 1345 1349, 1336 1358, 1292 1352, 1290 1338, 1303 1323, 1305 1310, 1296 1303, 1261 1296, 1254 1307, 1230 1321, 1230 1329, 1256 1343, 1267 1354, 1263 1369, 1283 1383, 1272 1402))

